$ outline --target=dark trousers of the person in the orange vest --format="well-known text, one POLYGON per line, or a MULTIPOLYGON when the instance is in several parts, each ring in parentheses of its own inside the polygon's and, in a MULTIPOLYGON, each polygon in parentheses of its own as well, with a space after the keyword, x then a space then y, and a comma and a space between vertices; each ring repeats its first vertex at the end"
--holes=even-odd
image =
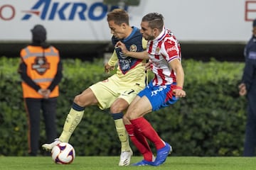
POLYGON ((25 98, 28 115, 28 153, 36 156, 39 149, 41 111, 46 127, 46 142, 53 142, 57 136, 55 115, 57 98, 25 98))

